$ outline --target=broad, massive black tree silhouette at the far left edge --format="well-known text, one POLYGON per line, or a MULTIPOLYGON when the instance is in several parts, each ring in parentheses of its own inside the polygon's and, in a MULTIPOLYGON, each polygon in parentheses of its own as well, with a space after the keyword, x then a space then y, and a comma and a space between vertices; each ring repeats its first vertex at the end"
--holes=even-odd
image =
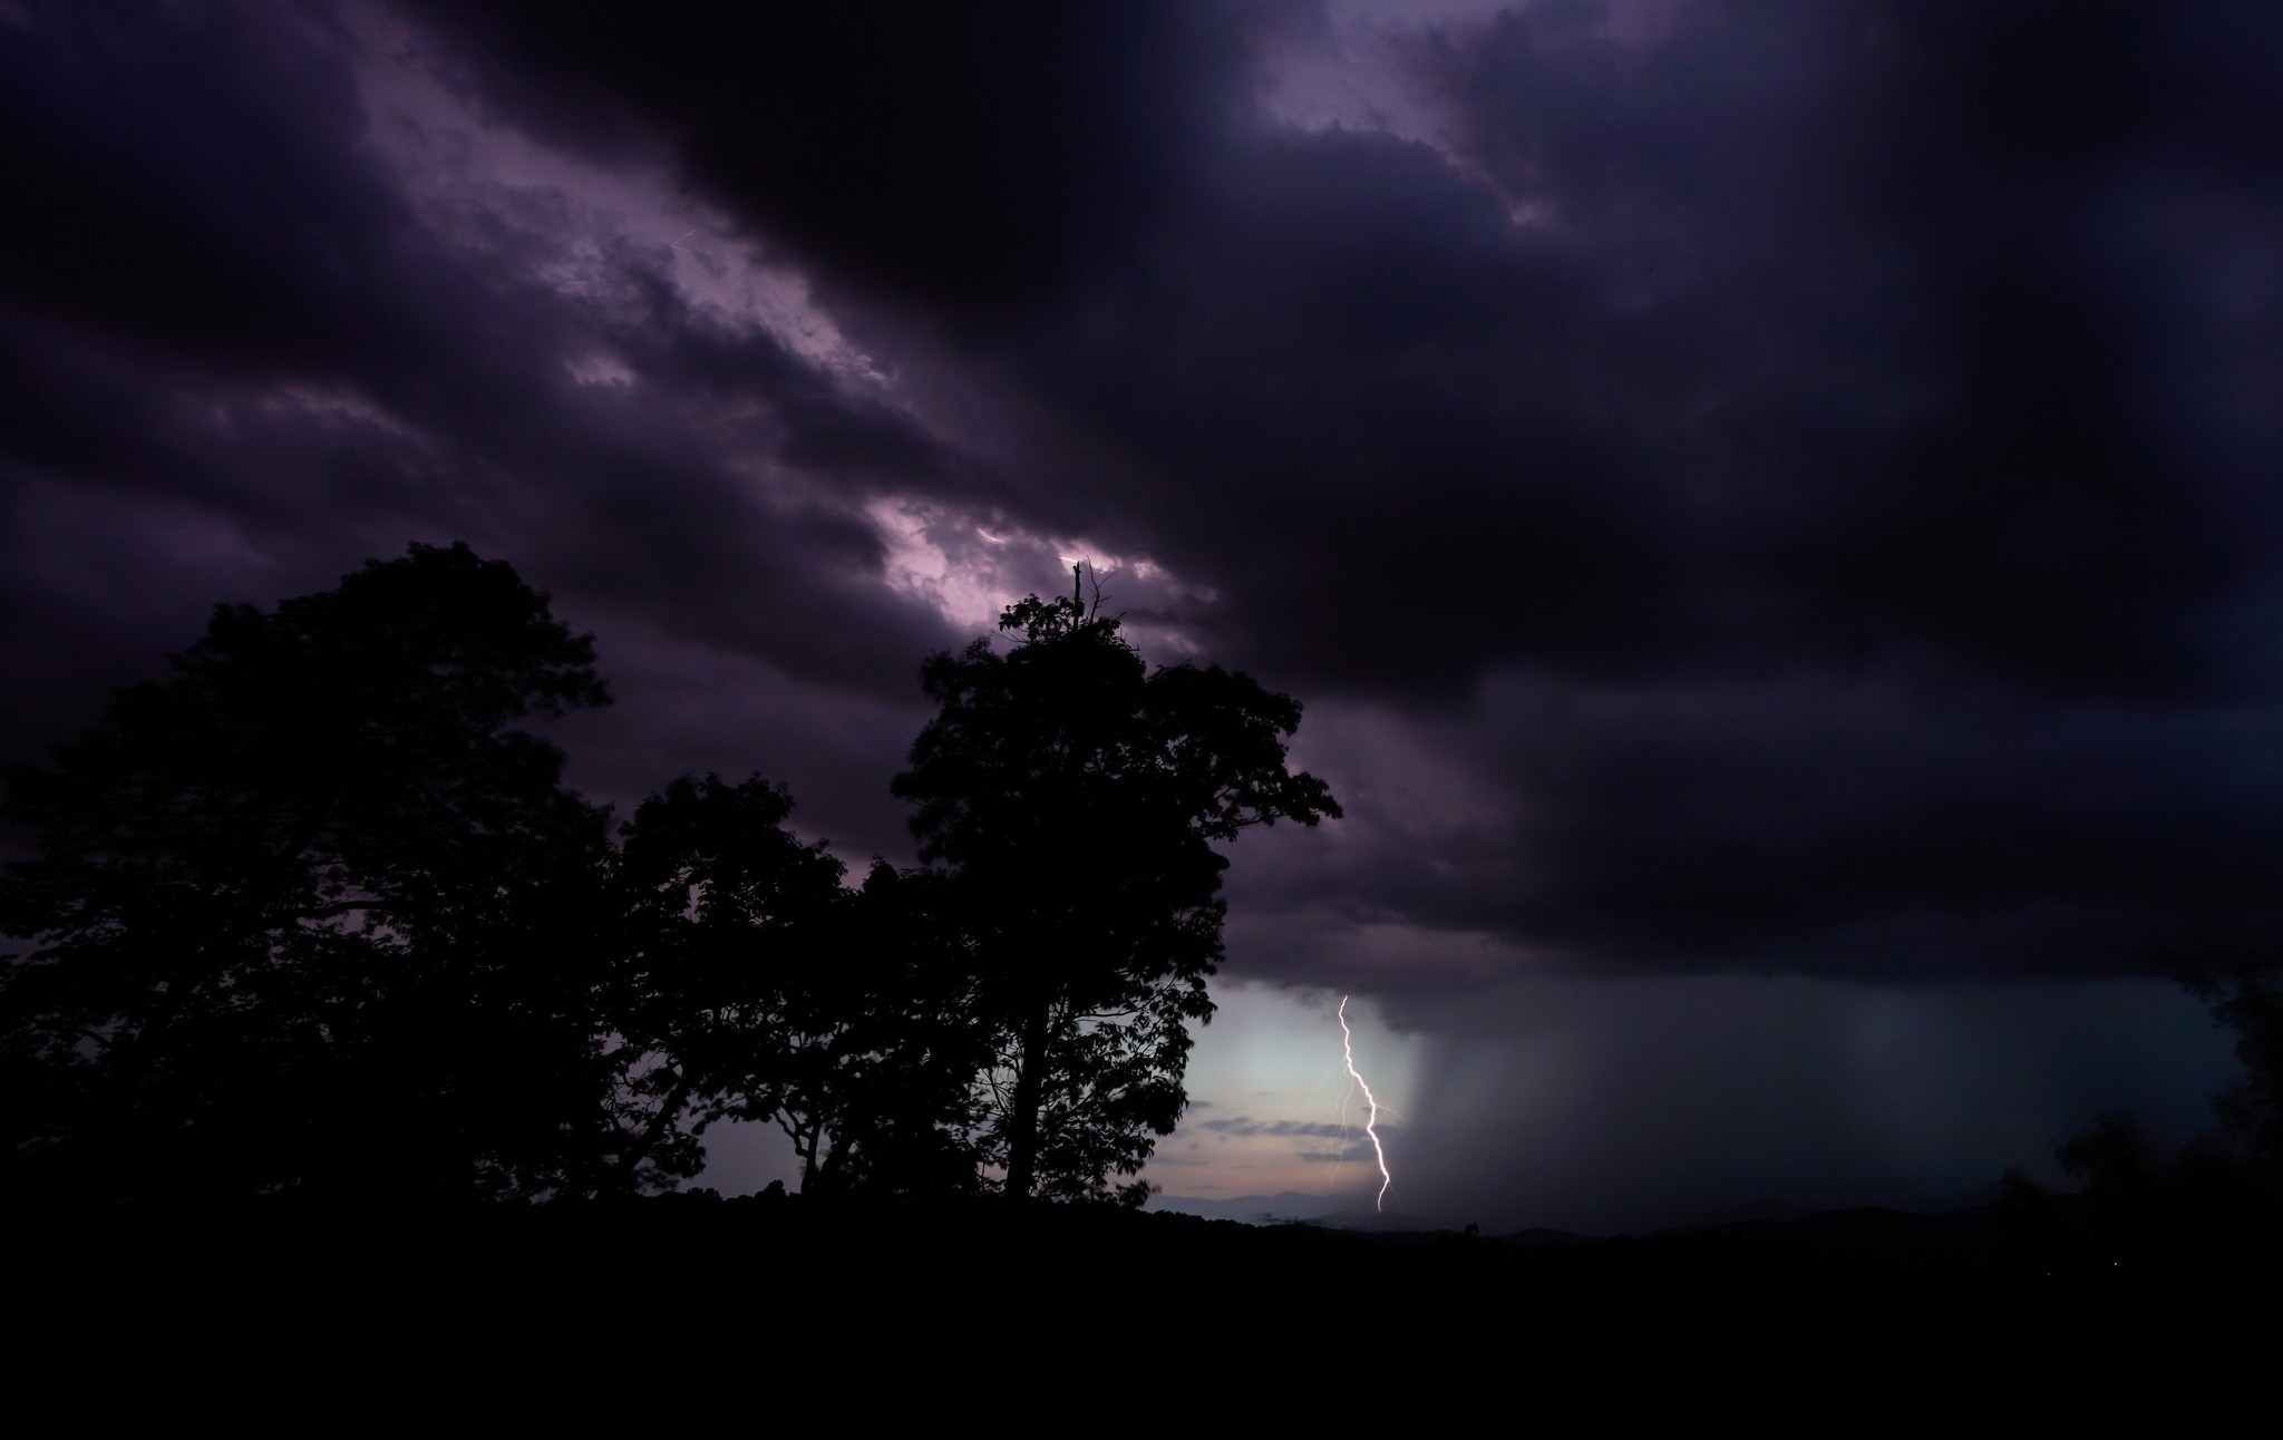
POLYGON ((534 1194, 591 1164, 605 812, 516 728, 603 705, 505 561, 413 545, 7 776, 7 1157, 100 1194, 534 1194))

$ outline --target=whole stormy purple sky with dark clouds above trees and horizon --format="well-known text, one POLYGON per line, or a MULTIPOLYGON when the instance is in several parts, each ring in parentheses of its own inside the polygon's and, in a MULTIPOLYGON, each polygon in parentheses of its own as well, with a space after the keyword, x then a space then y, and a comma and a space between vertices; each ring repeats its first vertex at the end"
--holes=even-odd
POLYGON ((1368 1196, 1340 993, 1443 1221, 2203 1123, 2155 956, 2283 933, 2283 7, 751 14, 0 2, 0 760, 466 539, 598 637, 584 792, 909 863, 920 657, 1082 557, 1347 806, 1233 849, 1167 1196, 1368 1196))

